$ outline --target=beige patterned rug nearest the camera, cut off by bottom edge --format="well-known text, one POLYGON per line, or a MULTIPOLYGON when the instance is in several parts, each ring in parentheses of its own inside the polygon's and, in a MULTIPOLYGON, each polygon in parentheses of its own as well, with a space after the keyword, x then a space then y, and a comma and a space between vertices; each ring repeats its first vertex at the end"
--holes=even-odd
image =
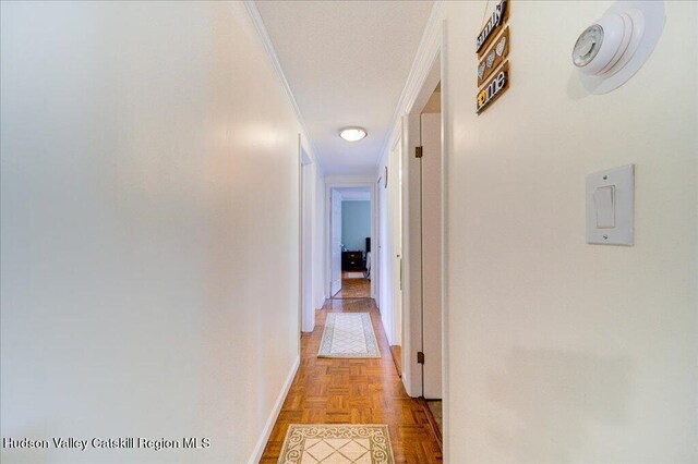
POLYGON ((291 424, 279 464, 393 464, 387 425, 291 424))

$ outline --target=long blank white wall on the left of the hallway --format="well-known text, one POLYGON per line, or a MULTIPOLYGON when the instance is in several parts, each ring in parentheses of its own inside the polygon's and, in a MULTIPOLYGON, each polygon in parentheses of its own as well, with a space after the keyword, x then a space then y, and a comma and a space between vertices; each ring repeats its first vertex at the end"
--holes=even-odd
POLYGON ((298 356, 298 133, 241 3, 2 2, 13 463, 246 462, 298 356))

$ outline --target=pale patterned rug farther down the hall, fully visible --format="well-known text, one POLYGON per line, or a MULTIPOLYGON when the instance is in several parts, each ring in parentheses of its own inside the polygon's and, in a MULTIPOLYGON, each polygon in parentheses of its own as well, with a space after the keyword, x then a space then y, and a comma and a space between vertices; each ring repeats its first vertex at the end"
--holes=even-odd
POLYGON ((329 313, 317 357, 381 357, 369 313, 329 313))

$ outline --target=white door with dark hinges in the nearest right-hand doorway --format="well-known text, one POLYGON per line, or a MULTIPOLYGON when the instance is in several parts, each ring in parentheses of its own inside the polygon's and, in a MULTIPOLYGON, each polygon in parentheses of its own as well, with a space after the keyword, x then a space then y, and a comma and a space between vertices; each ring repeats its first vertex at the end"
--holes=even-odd
POLYGON ((421 115, 421 136, 423 395, 435 400, 442 398, 441 114, 421 115))

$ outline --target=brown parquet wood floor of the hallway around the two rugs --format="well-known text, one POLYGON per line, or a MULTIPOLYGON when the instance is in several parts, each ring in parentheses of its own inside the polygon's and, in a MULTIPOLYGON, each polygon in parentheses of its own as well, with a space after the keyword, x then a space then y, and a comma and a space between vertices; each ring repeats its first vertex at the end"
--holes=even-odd
POLYGON ((327 300, 316 316, 315 330, 301 337, 301 365, 260 462, 277 462, 289 424, 387 424, 396 463, 441 463, 426 414, 405 393, 395 369, 375 302, 327 300), (330 312, 371 314, 381 358, 318 358, 330 312))

